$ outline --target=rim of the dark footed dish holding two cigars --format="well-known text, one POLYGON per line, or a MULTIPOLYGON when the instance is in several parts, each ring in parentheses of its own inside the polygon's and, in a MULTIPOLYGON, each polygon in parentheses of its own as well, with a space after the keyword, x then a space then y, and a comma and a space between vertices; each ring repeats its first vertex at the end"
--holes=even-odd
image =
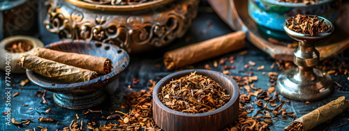
MULTIPOLYGON (((114 79, 115 77, 119 76, 121 74, 121 72, 123 72, 125 70, 125 68, 127 68, 128 63, 130 61, 130 56, 128 56, 128 53, 118 47, 117 45, 111 45, 111 44, 107 44, 107 43, 101 43, 98 41, 94 41, 94 40, 60 40, 57 41, 55 43, 51 43, 49 45, 45 45, 45 48, 49 48, 52 46, 57 46, 57 45, 62 45, 62 44, 66 44, 66 41, 68 41, 69 43, 75 43, 75 44, 101 44, 102 47, 103 45, 106 46, 110 46, 113 48, 116 48, 118 50, 122 50, 124 52, 124 55, 126 56, 127 61, 124 61, 119 68, 114 69, 112 72, 103 75, 101 77, 97 77, 96 79, 91 79, 89 81, 85 81, 85 82, 77 82, 77 83, 73 83, 73 84, 52 84, 52 83, 48 83, 48 82, 43 82, 43 81, 38 81, 38 79, 34 76, 33 71, 31 70, 26 70, 26 74, 28 79, 33 82, 34 84, 40 86, 41 88, 45 88, 47 90, 50 90, 52 92, 70 92, 70 93, 75 93, 74 91, 77 90, 81 90, 84 88, 90 88, 91 86, 93 86, 94 84, 101 84, 101 83, 109 83, 110 80, 114 79), (67 91, 69 90, 69 91, 67 91), (72 91, 74 90, 74 91, 72 91)), ((101 88, 101 87, 100 87, 101 88)))

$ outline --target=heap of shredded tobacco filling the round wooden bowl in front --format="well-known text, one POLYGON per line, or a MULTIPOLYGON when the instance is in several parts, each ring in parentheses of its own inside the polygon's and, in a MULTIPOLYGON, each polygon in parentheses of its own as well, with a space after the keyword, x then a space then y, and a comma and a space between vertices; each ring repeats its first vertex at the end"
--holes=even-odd
POLYGON ((158 93, 163 105, 175 111, 196 114, 214 111, 230 100, 225 88, 213 79, 195 73, 163 86, 158 93))

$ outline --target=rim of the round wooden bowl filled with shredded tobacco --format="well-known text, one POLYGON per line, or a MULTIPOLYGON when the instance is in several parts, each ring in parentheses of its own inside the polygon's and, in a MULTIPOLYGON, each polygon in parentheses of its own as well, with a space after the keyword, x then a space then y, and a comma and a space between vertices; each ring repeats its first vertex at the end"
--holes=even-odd
MULTIPOLYGON (((207 75, 206 75, 207 76, 207 75)), ((209 76, 207 76, 209 77, 209 76)), ((211 78, 211 77, 210 77, 211 78)), ((214 79, 214 81, 217 82, 216 79, 214 79)), ((217 114, 221 111, 224 111, 225 109, 228 109, 229 107, 231 107, 235 102, 237 102, 238 98, 239 98, 239 86, 237 85, 237 82, 235 82, 234 79, 228 77, 228 75, 224 75, 221 72, 217 72, 214 70, 205 70, 205 69, 189 69, 189 70, 181 70, 178 72, 173 72, 170 75, 167 75, 166 77, 163 77, 163 79, 161 79, 154 87, 153 90, 153 100, 154 100, 154 104, 158 105, 158 107, 160 107, 161 109, 163 109, 164 111, 167 111, 170 114, 175 114, 175 115, 179 115, 179 116, 190 116, 190 117, 198 117, 198 116, 211 116, 213 114, 217 114), (215 75, 219 75, 221 76, 222 81, 228 81, 230 82, 230 84, 232 85, 232 95, 230 96, 230 100, 229 102, 227 102, 225 105, 223 105, 223 107, 219 107, 218 109, 214 110, 214 111, 209 111, 206 113, 198 113, 198 114, 188 114, 188 113, 184 113, 181 111, 174 111, 173 109, 170 109, 168 107, 166 107, 165 105, 163 105, 163 103, 160 101, 160 99, 158 98, 158 91, 161 89, 161 85, 165 85, 168 83, 165 83, 166 81, 172 79, 172 77, 184 77, 185 75, 188 75, 191 72, 195 72, 197 74, 200 74, 200 72, 207 72, 209 74, 215 74, 215 75)), ((154 108, 153 108, 154 110, 154 108)))

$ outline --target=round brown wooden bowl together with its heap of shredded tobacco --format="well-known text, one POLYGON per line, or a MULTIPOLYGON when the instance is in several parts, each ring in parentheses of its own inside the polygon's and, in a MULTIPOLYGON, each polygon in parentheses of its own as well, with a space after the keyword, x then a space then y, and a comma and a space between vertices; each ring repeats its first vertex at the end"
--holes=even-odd
POLYGON ((153 91, 154 121, 163 130, 223 130, 239 117, 237 83, 221 72, 174 72, 153 91))

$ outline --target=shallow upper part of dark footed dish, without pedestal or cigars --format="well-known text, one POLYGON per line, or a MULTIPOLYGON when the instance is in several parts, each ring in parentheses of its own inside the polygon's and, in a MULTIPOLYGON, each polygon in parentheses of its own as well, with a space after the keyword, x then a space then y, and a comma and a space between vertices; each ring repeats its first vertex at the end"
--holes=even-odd
POLYGON ((64 40, 57 43, 52 43, 45 46, 48 49, 54 49, 63 52, 75 52, 79 54, 89 54, 92 56, 105 57, 112 60, 112 72, 107 75, 98 76, 96 79, 91 79, 87 82, 79 82, 74 84, 66 84, 50 79, 42 75, 38 75, 31 70, 27 70, 27 77, 31 82, 54 93, 65 94, 84 94, 102 88, 105 84, 112 82, 120 73, 128 66, 130 58, 124 49, 116 45, 99 43, 96 41, 85 40, 64 40))

